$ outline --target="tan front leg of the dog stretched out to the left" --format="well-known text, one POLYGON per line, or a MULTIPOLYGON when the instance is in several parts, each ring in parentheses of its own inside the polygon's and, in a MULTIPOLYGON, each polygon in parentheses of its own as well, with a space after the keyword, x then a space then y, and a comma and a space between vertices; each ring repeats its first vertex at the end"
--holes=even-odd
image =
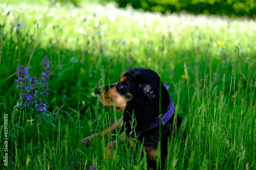
POLYGON ((98 137, 98 136, 101 136, 101 137, 104 136, 104 137, 106 137, 107 135, 109 135, 109 134, 115 132, 115 130, 121 126, 122 122, 123 122, 123 119, 120 118, 120 119, 116 120, 113 124, 111 124, 108 128, 106 128, 103 132, 99 132, 99 133, 93 134, 93 135, 91 135, 91 136, 88 136, 88 137, 86 137, 86 138, 83 138, 82 141, 83 141, 84 143, 89 143, 90 141, 93 140, 93 138, 94 138, 95 136, 96 136, 96 137, 98 137))

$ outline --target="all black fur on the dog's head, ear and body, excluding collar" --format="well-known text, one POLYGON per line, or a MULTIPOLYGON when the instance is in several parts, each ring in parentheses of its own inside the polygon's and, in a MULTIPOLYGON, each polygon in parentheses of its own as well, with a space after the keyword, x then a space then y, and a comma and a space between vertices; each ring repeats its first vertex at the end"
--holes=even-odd
MULTIPOLYGON (((164 113, 169 105, 169 94, 160 80, 158 74, 147 68, 133 68, 124 72, 123 76, 127 80, 122 84, 123 93, 130 92, 132 99, 127 102, 123 122, 125 123, 126 134, 131 132, 132 114, 134 114, 137 122, 136 130, 143 130, 152 123, 161 113, 164 113)), ((120 93, 122 93, 120 91, 120 93)), ((144 140, 144 147, 157 149, 158 142, 161 139, 161 162, 162 169, 167 158, 168 138, 172 136, 174 116, 168 122, 159 127, 143 132, 137 139, 144 140)), ((177 115, 177 129, 181 125, 181 119, 177 115)), ((177 130, 176 129, 176 130, 177 130)), ((136 134, 135 134, 136 136, 136 134)), ((174 136, 172 136, 174 137, 174 136)), ((148 168, 156 169, 155 160, 147 160, 148 168)))

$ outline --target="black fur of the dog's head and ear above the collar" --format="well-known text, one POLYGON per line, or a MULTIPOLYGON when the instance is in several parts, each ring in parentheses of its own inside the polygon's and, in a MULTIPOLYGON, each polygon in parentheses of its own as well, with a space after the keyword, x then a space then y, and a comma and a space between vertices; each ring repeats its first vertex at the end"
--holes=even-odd
POLYGON ((127 77, 127 88, 133 95, 127 102, 123 120, 126 126, 129 125, 134 114, 136 130, 142 130, 168 109, 169 94, 157 73, 151 69, 133 68, 124 72, 123 76, 127 77))

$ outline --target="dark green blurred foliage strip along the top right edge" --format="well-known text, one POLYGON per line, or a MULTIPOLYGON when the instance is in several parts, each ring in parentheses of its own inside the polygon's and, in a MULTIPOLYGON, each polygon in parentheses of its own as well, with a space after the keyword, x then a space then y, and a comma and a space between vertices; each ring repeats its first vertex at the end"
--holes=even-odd
POLYGON ((135 9, 143 9, 145 11, 181 12, 186 10, 193 14, 218 14, 227 16, 250 16, 253 17, 256 12, 255 1, 240 0, 122 0, 115 1, 119 7, 131 5, 135 9))

